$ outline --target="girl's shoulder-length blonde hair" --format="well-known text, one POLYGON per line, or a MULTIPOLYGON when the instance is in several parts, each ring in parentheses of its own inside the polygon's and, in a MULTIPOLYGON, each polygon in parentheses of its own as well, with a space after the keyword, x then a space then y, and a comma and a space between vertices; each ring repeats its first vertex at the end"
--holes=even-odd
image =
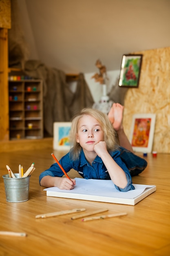
POLYGON ((71 131, 70 131, 70 141, 72 146, 70 150, 71 159, 77 160, 82 150, 82 147, 76 141, 76 136, 78 132, 79 120, 84 115, 91 115, 99 122, 100 126, 102 127, 102 130, 104 131, 104 141, 106 142, 108 152, 118 148, 119 139, 117 136, 117 132, 114 130, 112 124, 110 123, 108 116, 97 109, 84 108, 80 111, 79 114, 75 115, 72 120, 71 131))

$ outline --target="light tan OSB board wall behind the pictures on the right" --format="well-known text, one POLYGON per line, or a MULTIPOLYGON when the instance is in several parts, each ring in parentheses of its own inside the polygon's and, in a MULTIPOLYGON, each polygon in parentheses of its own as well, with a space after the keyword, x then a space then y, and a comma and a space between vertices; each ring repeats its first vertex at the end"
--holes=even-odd
POLYGON ((152 150, 170 153, 170 47, 143 54, 139 88, 129 88, 124 101, 124 130, 130 138, 132 115, 155 113, 152 150))

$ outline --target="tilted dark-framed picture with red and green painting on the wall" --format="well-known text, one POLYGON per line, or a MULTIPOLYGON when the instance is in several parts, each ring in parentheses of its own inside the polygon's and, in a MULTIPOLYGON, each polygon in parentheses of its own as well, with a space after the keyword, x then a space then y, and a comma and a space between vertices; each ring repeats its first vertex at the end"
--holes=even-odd
POLYGON ((121 62, 119 86, 138 88, 142 54, 124 54, 121 62))

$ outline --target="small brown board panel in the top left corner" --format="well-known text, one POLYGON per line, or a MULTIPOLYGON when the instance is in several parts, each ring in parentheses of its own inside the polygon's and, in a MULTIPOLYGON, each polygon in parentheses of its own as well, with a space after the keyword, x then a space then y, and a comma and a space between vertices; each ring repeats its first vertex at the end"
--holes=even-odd
POLYGON ((0 0, 0 28, 11 28, 11 0, 0 0))

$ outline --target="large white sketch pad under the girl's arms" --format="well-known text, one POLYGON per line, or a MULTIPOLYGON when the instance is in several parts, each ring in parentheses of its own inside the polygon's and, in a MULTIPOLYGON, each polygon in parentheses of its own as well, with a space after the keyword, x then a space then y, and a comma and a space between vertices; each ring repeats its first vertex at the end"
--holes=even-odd
POLYGON ((61 190, 57 187, 44 190, 47 196, 130 205, 137 204, 156 191, 155 185, 133 184, 134 190, 121 192, 115 188, 111 180, 75 178, 75 181, 76 186, 72 190, 61 190))

